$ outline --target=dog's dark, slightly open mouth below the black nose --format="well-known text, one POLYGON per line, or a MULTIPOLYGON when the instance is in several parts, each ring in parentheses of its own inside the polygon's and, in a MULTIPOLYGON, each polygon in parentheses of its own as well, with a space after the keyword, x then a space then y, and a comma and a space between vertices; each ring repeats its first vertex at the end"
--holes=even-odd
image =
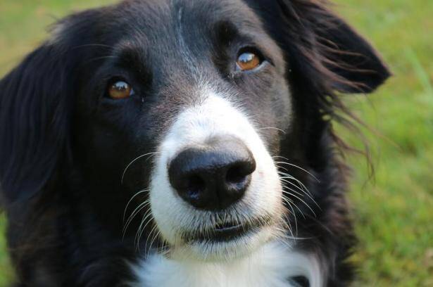
POLYGON ((234 241, 249 236, 270 224, 270 218, 253 219, 248 222, 238 220, 219 222, 210 228, 186 232, 183 235, 187 243, 218 243, 234 241))

